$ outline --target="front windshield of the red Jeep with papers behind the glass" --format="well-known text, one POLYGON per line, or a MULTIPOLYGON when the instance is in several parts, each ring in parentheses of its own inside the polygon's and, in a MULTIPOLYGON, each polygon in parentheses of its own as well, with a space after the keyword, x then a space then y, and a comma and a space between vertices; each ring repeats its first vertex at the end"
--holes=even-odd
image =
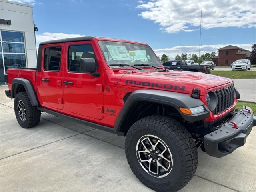
MULTIPOLYGON (((149 64, 162 66, 150 46, 115 41, 99 41, 100 49, 108 66, 111 64, 149 64)), ((130 68, 130 66, 111 66, 111 68, 130 68)))

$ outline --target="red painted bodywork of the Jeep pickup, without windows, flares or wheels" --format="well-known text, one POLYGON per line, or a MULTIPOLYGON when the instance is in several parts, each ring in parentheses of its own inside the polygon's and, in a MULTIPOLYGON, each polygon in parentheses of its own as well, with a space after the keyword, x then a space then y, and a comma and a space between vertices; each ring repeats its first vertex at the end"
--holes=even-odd
MULTIPOLYGON (((233 84, 232 80, 224 77, 188 71, 170 71, 168 75, 158 72, 152 67, 143 68, 145 71, 138 71, 134 68, 110 68, 98 45, 99 40, 120 41, 128 43, 143 44, 126 40, 116 40, 109 38, 93 38, 91 41, 66 42, 57 44, 43 45, 41 71, 26 69, 8 69, 9 90, 11 90, 12 80, 16 77, 26 78, 30 80, 36 91, 40 105, 44 108, 73 116, 90 122, 95 122, 109 127, 114 127, 114 122, 124 105, 123 98, 128 92, 138 89, 158 89, 165 91, 174 91, 184 94, 192 94, 194 88, 200 89, 200 100, 206 104, 206 93, 209 90, 216 90, 224 86, 233 84), (86 73, 75 73, 68 71, 68 46, 79 44, 91 44, 99 68, 100 77, 94 77, 86 73), (44 49, 49 46, 61 46, 61 68, 59 72, 44 71, 44 49), (150 71, 148 71, 150 69, 150 71), (126 70, 132 72, 127 73, 126 70), (147 70, 147 71, 146 71, 147 70), (42 78, 49 79, 49 82, 42 82, 42 78), (126 80, 136 82, 147 82, 145 86, 126 83, 126 80), (73 85, 65 85, 64 81, 72 81, 73 85), (169 86, 164 88, 164 84, 169 86), (174 87, 177 86, 177 89, 174 87), (184 87, 184 90, 180 88, 184 87), (110 113, 107 110, 114 110, 110 113)), ((206 105, 207 106, 207 105, 206 105)), ((211 122, 228 112, 234 110, 236 106, 236 98, 234 105, 228 110, 210 116, 204 121, 211 122)))

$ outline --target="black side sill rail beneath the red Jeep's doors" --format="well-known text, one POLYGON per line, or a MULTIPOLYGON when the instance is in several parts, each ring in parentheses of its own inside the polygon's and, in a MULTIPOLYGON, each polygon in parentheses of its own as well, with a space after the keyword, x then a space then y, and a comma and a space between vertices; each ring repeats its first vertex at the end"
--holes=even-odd
POLYGON ((52 111, 52 110, 49 110, 49 109, 46 109, 46 108, 42 108, 42 107, 37 107, 37 109, 42 111, 42 112, 46 112, 46 113, 52 114, 52 115, 57 116, 57 117, 62 117, 62 118, 65 118, 65 119, 68 119, 68 120, 71 120, 71 121, 74 121, 74 122, 77 122, 77 123, 80 123, 80 124, 84 124, 86 126, 90 126, 92 128, 96 128, 96 129, 100 129, 100 130, 103 130, 103 131, 114 133, 114 134, 117 134, 117 135, 120 135, 120 136, 124 136, 123 132, 115 132, 114 128, 111 128, 111 127, 108 127, 108 126, 92 123, 92 122, 82 120, 82 119, 78 119, 78 118, 75 118, 75 117, 70 117, 68 115, 64 115, 64 114, 61 114, 61 113, 58 113, 58 112, 55 112, 55 111, 52 111))

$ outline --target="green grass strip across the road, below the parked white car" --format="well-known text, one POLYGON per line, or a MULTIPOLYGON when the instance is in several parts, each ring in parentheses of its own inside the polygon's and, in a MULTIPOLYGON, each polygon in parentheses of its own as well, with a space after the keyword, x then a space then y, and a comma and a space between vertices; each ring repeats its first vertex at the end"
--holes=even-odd
POLYGON ((211 74, 230 79, 256 79, 256 71, 211 71, 211 74))

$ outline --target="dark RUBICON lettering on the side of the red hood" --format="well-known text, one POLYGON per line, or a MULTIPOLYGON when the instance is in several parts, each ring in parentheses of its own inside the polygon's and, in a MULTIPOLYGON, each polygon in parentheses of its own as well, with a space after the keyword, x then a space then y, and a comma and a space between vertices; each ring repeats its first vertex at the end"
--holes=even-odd
POLYGON ((133 80, 125 80, 126 84, 131 85, 141 85, 146 87, 157 87, 157 88, 166 88, 166 89, 174 89, 174 90, 185 90, 185 86, 171 85, 171 84, 162 84, 162 83, 150 83, 144 81, 133 81, 133 80))

